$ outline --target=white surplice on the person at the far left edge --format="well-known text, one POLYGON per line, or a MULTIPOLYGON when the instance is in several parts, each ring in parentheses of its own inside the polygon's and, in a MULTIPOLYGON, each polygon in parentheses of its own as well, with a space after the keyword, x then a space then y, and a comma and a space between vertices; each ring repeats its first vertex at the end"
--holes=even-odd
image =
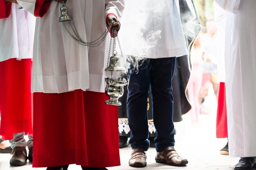
POLYGON ((9 17, 0 19, 0 62, 33 56, 36 17, 19 7, 11 4, 9 17))

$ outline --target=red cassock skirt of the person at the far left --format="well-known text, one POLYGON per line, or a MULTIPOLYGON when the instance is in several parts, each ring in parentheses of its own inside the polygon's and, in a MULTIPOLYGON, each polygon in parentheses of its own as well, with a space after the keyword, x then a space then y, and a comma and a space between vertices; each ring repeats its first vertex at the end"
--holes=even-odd
POLYGON ((32 133, 31 59, 0 62, 0 135, 32 133))

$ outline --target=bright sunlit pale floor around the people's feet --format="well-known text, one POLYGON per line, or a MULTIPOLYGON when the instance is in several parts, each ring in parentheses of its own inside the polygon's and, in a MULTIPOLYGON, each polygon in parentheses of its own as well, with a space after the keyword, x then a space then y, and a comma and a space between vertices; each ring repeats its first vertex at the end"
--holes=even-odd
MULTIPOLYGON (((144 170, 232 170, 239 158, 220 155, 220 149, 225 146, 227 139, 216 139, 216 100, 207 99, 205 105, 211 106, 209 114, 199 115, 199 123, 191 124, 190 115, 184 115, 184 121, 176 123, 175 147, 177 152, 189 161, 186 167, 173 167, 156 163, 155 149, 147 151, 147 166, 144 170)), ((128 166, 131 149, 120 149, 121 166, 108 168, 109 170, 133 170, 128 166)), ((9 166, 11 155, 0 154, 0 170, 45 170, 46 168, 32 168, 30 162, 22 167, 9 166)), ((142 169, 142 168, 141 168, 142 169)), ((71 165, 69 170, 81 170, 80 166, 71 165)))

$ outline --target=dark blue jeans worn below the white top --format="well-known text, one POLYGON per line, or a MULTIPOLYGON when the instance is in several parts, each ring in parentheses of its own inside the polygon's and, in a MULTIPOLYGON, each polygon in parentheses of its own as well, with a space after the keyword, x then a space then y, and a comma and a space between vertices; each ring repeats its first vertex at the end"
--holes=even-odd
MULTIPOLYGON (((129 144, 132 149, 149 148, 147 99, 151 88, 153 120, 157 137, 156 150, 162 152, 174 146, 172 78, 175 57, 145 59, 139 63, 139 72, 129 74, 127 116, 130 126, 129 144)), ((130 68, 133 69, 133 66, 130 68)))

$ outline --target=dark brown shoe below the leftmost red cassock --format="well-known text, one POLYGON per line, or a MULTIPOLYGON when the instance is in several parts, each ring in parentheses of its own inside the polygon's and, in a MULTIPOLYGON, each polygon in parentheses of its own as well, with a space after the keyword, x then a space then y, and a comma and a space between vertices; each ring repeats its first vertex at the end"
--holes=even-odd
POLYGON ((25 147, 16 146, 12 150, 12 157, 10 160, 11 166, 22 166, 27 162, 27 150, 25 147))

